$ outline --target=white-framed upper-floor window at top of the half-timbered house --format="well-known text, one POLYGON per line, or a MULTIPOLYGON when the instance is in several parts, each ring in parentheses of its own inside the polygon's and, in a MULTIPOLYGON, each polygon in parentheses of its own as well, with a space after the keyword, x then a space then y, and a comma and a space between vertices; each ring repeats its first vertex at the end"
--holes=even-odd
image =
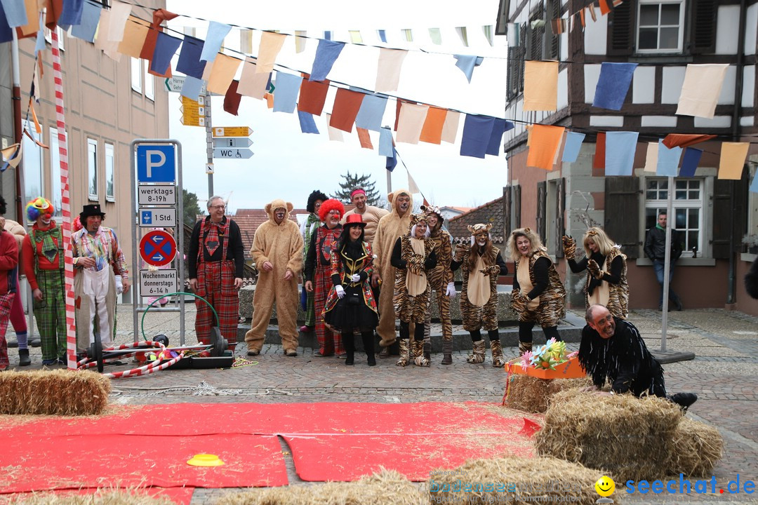
POLYGON ((637 52, 682 51, 684 0, 640 0, 637 9, 637 52))

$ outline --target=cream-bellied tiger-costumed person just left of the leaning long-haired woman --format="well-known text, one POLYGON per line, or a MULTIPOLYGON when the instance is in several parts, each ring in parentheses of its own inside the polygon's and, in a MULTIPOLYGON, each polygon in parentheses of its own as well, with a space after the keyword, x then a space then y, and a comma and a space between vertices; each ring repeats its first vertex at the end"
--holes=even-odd
POLYGON ((455 271, 463 266, 463 287, 461 288, 461 316, 463 329, 471 334, 474 351, 468 355, 468 363, 484 363, 484 338, 481 329, 490 337, 492 366, 506 364, 503 359, 503 345, 500 344, 500 332, 497 331, 497 276, 508 274, 508 267, 500 249, 496 248, 490 237, 492 223, 478 223, 468 226, 471 232, 471 244, 456 247, 456 257, 450 264, 455 271))

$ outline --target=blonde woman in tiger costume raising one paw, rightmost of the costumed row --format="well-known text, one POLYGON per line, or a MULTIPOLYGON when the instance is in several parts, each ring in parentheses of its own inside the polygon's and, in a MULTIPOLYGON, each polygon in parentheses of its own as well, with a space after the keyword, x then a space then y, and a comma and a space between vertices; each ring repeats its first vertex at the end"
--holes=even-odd
POLYGON ((576 241, 564 235, 563 252, 573 273, 587 270, 584 307, 603 305, 612 316, 625 320, 629 315, 629 284, 626 256, 603 229, 593 226, 584 233, 584 258, 575 260, 576 241), (602 270, 601 270, 602 269, 602 270))

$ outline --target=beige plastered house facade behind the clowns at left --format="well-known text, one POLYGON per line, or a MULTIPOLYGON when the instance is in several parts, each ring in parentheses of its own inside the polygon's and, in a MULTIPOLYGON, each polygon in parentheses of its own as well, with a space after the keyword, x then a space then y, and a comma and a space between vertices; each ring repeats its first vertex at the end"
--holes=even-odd
MULTIPOLYGON (((153 8, 164 8, 164 0, 140 2, 132 14, 152 19, 153 8)), ((105 8, 109 2, 103 2, 105 8)), ((75 217, 83 205, 100 204, 106 214, 105 226, 113 228, 121 242, 127 261, 131 261, 131 184, 130 142, 134 139, 168 139, 168 92, 164 79, 148 73, 149 63, 115 55, 111 59, 91 42, 64 33, 60 28, 61 70, 68 147, 70 208, 75 217)), ((55 114, 51 38, 42 52, 43 73, 34 104, 42 132, 36 132, 32 115, 27 116, 35 58, 35 39, 18 41, 16 55, 11 42, 0 44, 0 136, 3 145, 23 142, 19 166, 20 192, 16 191, 17 173, 8 169, 2 174, 2 194, 8 201, 8 217, 25 221, 17 215, 16 198, 21 207, 34 196, 42 195, 55 204, 60 216, 61 179, 58 133, 55 114), (20 76, 20 118, 14 117, 11 69, 17 58, 20 76), (15 123, 15 124, 14 124, 15 123), (27 129, 42 148, 22 132, 27 129), (22 139, 23 138, 23 139, 22 139), (10 198, 9 198, 10 197, 10 198), (13 207, 13 209, 11 209, 13 207)), ((179 104, 177 103, 178 107, 179 104)))

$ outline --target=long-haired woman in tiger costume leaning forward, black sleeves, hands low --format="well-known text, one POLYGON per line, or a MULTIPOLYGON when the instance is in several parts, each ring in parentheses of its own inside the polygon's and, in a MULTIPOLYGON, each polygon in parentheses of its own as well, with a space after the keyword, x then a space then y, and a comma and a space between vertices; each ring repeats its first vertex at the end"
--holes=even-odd
POLYGON ((531 351, 534 323, 546 340, 562 340, 558 321, 565 316, 566 291, 547 248, 532 229, 519 228, 511 232, 506 251, 516 267, 511 303, 518 313, 518 353, 531 351))

